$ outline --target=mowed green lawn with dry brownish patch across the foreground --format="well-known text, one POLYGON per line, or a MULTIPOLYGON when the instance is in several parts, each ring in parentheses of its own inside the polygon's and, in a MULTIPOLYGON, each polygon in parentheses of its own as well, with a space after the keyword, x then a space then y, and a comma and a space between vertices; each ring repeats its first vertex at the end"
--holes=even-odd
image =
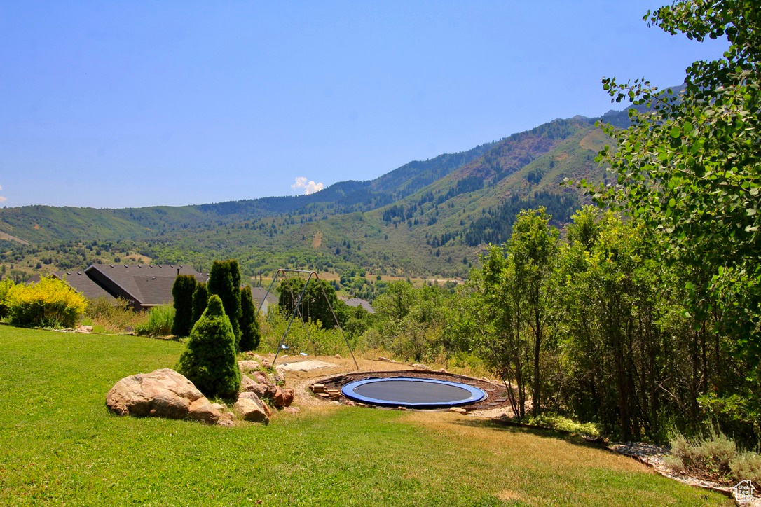
POLYGON ((0 325, 2 505, 732 505, 551 433, 305 407, 234 428, 108 414, 184 345, 0 325))

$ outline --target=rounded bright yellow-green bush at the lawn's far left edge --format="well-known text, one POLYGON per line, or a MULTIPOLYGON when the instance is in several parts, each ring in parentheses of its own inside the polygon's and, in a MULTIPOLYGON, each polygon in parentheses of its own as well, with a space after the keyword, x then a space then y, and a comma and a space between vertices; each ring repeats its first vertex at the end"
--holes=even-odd
POLYGON ((5 301, 12 325, 40 328, 72 328, 88 306, 84 296, 56 277, 14 285, 5 301))

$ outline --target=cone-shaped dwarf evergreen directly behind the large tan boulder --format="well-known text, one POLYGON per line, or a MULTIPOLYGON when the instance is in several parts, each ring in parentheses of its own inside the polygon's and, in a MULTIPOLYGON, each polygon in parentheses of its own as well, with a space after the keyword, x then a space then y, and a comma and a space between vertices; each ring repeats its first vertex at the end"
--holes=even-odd
POLYGON ((190 331, 177 371, 208 397, 234 398, 237 394, 240 369, 235 356, 235 334, 216 294, 209 297, 209 306, 190 331))

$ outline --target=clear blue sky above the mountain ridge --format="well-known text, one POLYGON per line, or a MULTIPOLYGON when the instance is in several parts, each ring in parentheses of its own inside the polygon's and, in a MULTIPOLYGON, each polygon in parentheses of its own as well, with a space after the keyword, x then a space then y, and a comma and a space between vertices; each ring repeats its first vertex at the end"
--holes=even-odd
POLYGON ((296 195, 598 116, 603 76, 726 48, 648 28, 659 5, 0 0, 0 204, 296 195))

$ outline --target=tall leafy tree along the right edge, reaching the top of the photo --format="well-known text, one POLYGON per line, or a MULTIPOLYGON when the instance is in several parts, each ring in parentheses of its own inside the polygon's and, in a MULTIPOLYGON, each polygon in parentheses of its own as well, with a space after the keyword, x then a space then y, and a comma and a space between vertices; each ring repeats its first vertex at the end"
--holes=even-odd
POLYGON ((696 328, 721 315, 713 331, 732 358, 724 368, 731 367, 737 382, 718 382, 706 395, 715 406, 728 406, 722 400, 733 396, 746 399, 740 412, 726 415, 759 431, 761 9, 750 0, 681 0, 645 19, 698 41, 726 36, 729 48, 721 59, 690 65, 680 93, 644 80, 603 80, 613 100, 648 109, 629 109, 627 129, 605 128, 617 146, 603 150, 600 160, 610 163, 618 185, 590 192, 658 230, 668 259, 708 271, 686 283, 690 315, 696 328))

